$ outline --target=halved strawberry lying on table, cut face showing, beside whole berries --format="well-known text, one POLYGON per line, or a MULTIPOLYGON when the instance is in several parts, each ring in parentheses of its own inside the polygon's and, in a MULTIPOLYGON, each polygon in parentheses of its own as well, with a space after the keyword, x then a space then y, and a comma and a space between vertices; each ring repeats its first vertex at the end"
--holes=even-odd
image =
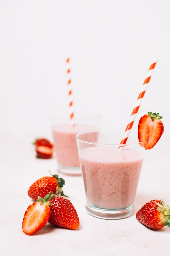
POLYGON ((46 225, 50 218, 51 209, 43 202, 33 202, 27 208, 22 221, 22 231, 32 235, 46 225))

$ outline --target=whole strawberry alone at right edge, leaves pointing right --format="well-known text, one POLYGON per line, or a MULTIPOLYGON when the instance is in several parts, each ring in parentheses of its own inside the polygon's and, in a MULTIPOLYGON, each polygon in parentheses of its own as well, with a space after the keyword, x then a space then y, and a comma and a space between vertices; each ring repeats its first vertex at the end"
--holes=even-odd
POLYGON ((151 200, 137 211, 136 218, 151 229, 170 227, 170 207, 163 200, 151 200))

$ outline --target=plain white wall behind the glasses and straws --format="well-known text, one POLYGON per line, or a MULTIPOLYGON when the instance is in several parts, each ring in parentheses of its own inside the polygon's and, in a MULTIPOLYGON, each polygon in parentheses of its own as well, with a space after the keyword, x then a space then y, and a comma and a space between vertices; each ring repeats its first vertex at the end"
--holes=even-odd
POLYGON ((123 130, 157 58, 136 122, 159 112, 170 134, 170 0, 0 0, 0 134, 51 136, 67 57, 75 112, 123 130))

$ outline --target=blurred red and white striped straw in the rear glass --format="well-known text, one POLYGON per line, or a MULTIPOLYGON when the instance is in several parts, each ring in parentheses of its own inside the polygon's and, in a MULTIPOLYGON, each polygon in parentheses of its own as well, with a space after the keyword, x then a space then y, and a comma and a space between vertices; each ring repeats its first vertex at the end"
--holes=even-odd
POLYGON ((73 118, 74 118, 74 111, 73 111, 73 91, 71 86, 71 68, 70 68, 70 58, 66 60, 67 66, 67 88, 68 88, 68 104, 69 104, 69 117, 71 125, 74 125, 73 118))

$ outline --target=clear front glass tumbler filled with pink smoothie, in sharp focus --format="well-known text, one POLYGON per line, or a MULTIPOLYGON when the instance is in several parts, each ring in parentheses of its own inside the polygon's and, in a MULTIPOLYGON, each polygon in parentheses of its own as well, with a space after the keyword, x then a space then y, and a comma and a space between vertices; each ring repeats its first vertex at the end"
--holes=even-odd
POLYGON ((76 135, 84 179, 86 210, 103 219, 126 218, 134 212, 134 201, 144 160, 144 147, 131 132, 91 130, 76 135))

